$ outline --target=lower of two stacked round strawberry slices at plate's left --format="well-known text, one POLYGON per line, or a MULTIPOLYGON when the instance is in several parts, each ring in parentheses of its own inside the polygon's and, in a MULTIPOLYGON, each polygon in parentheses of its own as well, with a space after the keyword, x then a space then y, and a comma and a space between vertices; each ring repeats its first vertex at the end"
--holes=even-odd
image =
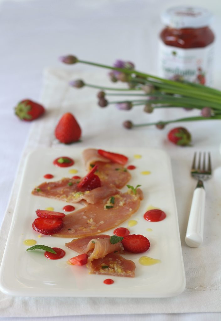
POLYGON ((57 233, 63 226, 61 218, 56 219, 43 219, 38 217, 32 223, 33 230, 46 235, 52 235, 57 233))

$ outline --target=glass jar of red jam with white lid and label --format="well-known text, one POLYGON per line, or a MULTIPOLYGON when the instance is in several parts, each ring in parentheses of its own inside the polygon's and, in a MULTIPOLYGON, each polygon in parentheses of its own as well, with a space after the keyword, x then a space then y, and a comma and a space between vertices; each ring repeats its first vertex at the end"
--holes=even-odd
POLYGON ((177 6, 161 16, 159 74, 172 80, 212 85, 214 33, 207 9, 177 6))

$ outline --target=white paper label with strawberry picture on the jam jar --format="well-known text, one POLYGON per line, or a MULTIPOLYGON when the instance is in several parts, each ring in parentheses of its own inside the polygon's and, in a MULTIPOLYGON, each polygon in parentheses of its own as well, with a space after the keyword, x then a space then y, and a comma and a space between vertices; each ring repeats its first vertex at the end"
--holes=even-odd
POLYGON ((214 44, 204 48, 183 49, 159 44, 159 75, 162 78, 212 86, 214 44))

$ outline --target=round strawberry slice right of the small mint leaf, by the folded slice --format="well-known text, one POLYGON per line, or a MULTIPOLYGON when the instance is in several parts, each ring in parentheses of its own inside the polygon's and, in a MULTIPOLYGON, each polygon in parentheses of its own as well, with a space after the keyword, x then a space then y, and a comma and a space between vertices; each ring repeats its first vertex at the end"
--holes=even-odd
POLYGON ((150 247, 149 240, 140 234, 130 234, 124 236, 124 239, 121 241, 123 247, 128 252, 132 253, 142 253, 148 250, 150 247))

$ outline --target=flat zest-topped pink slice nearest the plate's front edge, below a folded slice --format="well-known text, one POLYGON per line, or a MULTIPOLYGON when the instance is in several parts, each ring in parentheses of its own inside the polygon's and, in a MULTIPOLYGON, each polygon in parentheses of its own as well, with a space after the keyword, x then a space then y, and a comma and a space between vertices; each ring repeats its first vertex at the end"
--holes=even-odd
POLYGON ((119 254, 110 253, 105 257, 93 260, 88 266, 89 273, 113 276, 135 277, 136 265, 119 254))

